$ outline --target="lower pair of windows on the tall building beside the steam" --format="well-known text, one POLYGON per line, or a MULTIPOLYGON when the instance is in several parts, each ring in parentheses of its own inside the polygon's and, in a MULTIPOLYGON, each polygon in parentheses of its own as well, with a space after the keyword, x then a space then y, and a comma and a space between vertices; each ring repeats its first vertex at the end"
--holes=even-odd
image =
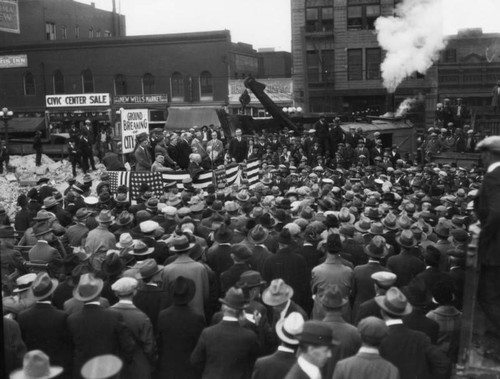
MULTIPOLYGON (((380 79, 380 48, 347 50, 347 79, 376 80, 380 79), (363 69, 364 67, 364 69, 363 69), (363 75, 364 72, 364 75, 363 75)), ((335 77, 334 50, 310 50, 306 54, 307 77, 310 83, 333 81, 335 77)))

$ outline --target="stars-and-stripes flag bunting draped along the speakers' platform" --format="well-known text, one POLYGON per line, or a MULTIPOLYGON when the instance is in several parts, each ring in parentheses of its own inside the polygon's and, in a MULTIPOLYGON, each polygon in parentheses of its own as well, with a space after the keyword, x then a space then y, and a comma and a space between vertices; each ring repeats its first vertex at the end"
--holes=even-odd
MULTIPOLYGON (((250 187, 254 186, 259 181, 259 160, 253 160, 247 163, 246 167, 241 170, 240 166, 232 163, 226 166, 227 185, 239 184, 242 178, 247 178, 250 187)), ((189 178, 187 171, 179 170, 172 172, 147 172, 147 171, 109 171, 110 189, 115 193, 120 185, 125 185, 129 189, 129 197, 131 200, 137 200, 139 197, 139 189, 142 183, 147 183, 149 189, 156 196, 163 194, 163 187, 168 182, 176 182, 177 188, 184 188, 182 181, 189 178)), ((202 173, 196 181, 193 182, 195 188, 205 189, 213 183, 213 171, 202 173)))

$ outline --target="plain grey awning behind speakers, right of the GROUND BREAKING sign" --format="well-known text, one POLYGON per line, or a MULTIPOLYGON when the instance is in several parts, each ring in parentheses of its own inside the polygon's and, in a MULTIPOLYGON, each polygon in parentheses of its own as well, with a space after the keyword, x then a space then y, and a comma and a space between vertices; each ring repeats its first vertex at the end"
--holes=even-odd
POLYGON ((166 129, 190 129, 195 125, 216 125, 220 126, 219 118, 214 107, 170 107, 166 129))

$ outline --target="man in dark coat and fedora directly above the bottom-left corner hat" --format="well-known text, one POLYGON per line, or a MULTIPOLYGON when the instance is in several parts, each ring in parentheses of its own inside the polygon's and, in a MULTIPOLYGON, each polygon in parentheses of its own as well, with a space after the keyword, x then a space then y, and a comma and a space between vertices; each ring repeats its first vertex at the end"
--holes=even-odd
POLYGON ((46 272, 39 273, 29 289, 35 299, 33 307, 19 313, 17 321, 28 350, 42 350, 52 362, 62 366, 65 378, 71 378, 71 335, 66 319, 68 315, 51 304, 52 294, 59 282, 46 272))

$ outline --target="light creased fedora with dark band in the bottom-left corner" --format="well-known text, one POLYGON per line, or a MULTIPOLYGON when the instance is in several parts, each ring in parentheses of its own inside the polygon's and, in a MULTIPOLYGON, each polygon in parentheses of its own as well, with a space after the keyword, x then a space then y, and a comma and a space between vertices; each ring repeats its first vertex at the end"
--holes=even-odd
POLYGON ((10 379, 50 379, 63 372, 60 366, 51 366, 50 358, 41 350, 28 351, 23 358, 23 368, 13 371, 10 379))

